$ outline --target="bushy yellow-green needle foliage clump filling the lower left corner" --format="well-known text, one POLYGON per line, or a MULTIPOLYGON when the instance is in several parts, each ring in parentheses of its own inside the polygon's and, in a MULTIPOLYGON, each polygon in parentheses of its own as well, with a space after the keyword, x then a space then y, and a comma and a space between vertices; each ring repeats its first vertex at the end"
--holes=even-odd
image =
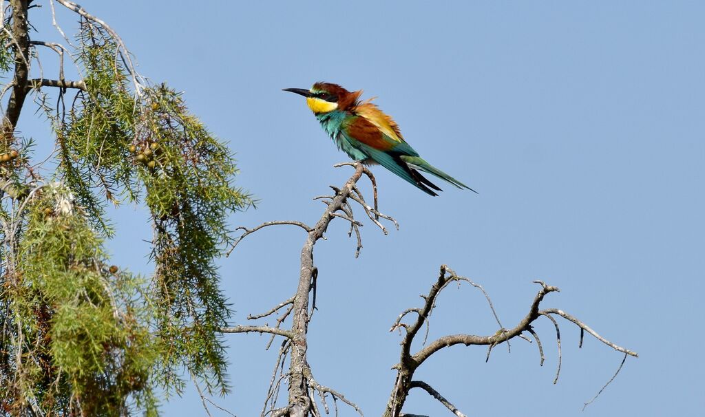
POLYGON ((13 394, 30 390, 43 409, 117 416, 133 394, 154 412, 149 375, 157 356, 149 312, 135 297, 140 280, 111 271, 102 239, 71 197, 51 184, 24 205, 16 263, 5 275, 13 332, 3 334, 21 378, 0 400, 22 406, 13 394))

